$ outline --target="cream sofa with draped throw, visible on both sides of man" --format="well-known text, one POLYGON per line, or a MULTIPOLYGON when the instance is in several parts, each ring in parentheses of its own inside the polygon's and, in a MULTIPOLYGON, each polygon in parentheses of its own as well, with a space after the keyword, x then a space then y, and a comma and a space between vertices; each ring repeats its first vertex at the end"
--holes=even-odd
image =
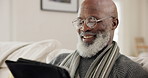
MULTIPOLYGON (((49 63, 57 55, 73 51, 63 49, 62 44, 55 39, 37 42, 0 42, 0 78, 9 78, 10 75, 5 60, 16 61, 18 58, 24 58, 49 63)), ((138 57, 128 57, 148 71, 147 53, 138 57)))

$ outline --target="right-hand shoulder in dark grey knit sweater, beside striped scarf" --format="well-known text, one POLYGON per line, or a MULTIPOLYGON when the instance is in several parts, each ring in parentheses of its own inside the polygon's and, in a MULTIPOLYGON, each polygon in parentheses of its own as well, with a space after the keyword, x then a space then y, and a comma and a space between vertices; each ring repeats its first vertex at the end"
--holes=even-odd
POLYGON ((120 78, 148 78, 148 72, 140 64, 124 55, 120 55, 116 60, 111 73, 112 76, 116 74, 120 78))

